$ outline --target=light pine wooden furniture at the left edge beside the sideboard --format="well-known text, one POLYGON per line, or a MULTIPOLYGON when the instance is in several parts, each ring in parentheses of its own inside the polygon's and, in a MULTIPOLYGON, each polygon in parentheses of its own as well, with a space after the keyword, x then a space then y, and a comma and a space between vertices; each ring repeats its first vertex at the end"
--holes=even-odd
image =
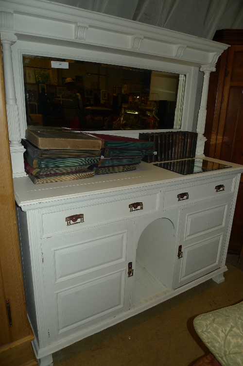
POLYGON ((0 154, 0 365, 35 366, 19 254, 1 52, 0 154))

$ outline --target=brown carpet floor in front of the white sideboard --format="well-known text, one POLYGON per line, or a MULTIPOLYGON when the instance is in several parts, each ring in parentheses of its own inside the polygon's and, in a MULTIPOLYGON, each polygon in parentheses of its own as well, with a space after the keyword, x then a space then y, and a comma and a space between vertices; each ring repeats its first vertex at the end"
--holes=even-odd
POLYGON ((243 300, 243 272, 208 280, 156 307, 53 353, 54 366, 189 366, 208 354, 193 329, 196 315, 243 300))

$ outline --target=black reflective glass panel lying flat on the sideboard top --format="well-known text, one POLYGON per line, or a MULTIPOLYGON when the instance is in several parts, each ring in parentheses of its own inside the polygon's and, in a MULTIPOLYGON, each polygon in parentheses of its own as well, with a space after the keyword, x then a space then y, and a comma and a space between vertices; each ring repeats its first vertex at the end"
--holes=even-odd
POLYGON ((170 170, 171 172, 188 175, 195 173, 210 172, 225 168, 232 168, 230 165, 215 163, 204 159, 174 160, 165 163, 157 163, 155 166, 170 170))

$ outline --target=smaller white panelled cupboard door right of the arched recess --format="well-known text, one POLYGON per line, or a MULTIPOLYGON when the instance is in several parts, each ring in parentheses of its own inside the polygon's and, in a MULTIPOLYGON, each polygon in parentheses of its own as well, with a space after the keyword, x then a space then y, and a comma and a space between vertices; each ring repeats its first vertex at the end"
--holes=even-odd
POLYGON ((182 209, 174 288, 220 268, 230 205, 231 197, 182 209))

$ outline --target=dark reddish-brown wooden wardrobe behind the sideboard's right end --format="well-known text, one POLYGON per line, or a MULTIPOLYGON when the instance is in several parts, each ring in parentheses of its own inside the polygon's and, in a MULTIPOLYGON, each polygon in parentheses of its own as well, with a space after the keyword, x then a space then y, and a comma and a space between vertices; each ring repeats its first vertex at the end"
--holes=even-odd
MULTIPOLYGON (((210 74, 204 154, 243 164, 243 30, 223 29, 213 40, 230 47, 219 58, 216 72, 210 74)), ((228 251, 240 254, 242 247, 243 174, 228 251)))

